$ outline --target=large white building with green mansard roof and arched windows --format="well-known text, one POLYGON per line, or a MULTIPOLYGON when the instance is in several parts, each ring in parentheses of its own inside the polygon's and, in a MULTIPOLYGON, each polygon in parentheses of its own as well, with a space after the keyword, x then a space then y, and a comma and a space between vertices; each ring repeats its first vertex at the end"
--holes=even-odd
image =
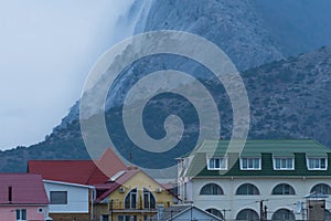
POLYGON ((314 140, 247 140, 239 151, 233 140, 227 151, 228 144, 205 140, 178 159, 179 198, 233 220, 311 220, 312 206, 330 220, 329 148, 314 140))

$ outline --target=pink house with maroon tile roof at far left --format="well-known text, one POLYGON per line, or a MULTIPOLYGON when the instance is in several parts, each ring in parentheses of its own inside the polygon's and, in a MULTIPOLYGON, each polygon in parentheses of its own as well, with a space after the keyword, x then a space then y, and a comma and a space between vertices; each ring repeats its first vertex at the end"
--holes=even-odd
POLYGON ((47 206, 40 175, 0 173, 0 221, 46 220, 47 206))

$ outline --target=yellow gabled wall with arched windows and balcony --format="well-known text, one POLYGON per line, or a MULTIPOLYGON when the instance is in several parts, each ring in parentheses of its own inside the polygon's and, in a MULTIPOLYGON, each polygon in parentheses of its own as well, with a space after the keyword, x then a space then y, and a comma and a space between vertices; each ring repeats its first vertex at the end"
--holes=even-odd
MULTIPOLYGON (((118 214, 130 214, 132 220, 132 215, 137 215, 137 220, 143 221, 143 215, 148 215, 148 219, 150 219, 150 215, 156 214, 156 209, 145 209, 143 208, 143 200, 142 200, 142 191, 143 188, 148 189, 152 192, 157 202, 156 204, 163 204, 164 209, 169 206, 173 204, 174 197, 169 193, 164 188, 162 188, 158 182, 156 182, 152 178, 143 173, 142 171, 139 171, 136 173, 131 179, 127 180, 120 188, 115 190, 110 196, 108 197, 109 201, 113 202, 113 220, 117 220, 118 214), (125 192, 120 192, 119 189, 125 188, 125 192), (132 190, 138 190, 138 200, 137 200, 137 209, 125 209, 125 198, 126 196, 132 190), (157 192, 157 189, 161 189, 161 192, 157 192)), ((102 204, 100 204, 102 206, 102 204)), ((98 206, 96 206, 98 207, 98 206)), ((96 208, 96 211, 99 214, 108 214, 110 213, 110 203, 108 204, 108 208, 106 207, 98 207, 96 208), (108 211, 107 211, 108 210, 108 211)))

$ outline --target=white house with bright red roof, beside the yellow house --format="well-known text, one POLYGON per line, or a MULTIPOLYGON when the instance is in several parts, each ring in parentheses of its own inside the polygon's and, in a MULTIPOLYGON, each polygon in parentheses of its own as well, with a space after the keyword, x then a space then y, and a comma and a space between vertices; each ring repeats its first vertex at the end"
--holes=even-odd
POLYGON ((54 220, 92 220, 94 185, 105 183, 126 165, 110 148, 98 160, 30 160, 29 173, 40 173, 54 220), (109 176, 109 177, 108 177, 109 176))

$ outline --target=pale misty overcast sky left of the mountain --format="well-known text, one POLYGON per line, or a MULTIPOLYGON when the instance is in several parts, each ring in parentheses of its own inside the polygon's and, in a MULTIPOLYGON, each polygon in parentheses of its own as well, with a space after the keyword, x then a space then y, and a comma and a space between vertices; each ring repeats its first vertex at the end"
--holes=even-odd
POLYGON ((61 123, 131 2, 0 0, 0 149, 42 141, 61 123))

